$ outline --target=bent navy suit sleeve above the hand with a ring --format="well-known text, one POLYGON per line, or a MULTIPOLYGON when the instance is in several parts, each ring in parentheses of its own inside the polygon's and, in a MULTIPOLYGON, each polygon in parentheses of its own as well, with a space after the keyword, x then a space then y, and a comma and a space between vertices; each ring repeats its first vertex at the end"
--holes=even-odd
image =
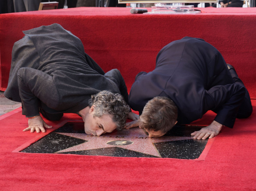
POLYGON ((217 113, 215 121, 232 128, 244 97, 245 87, 239 84, 214 86, 205 91, 204 112, 212 110, 217 113))

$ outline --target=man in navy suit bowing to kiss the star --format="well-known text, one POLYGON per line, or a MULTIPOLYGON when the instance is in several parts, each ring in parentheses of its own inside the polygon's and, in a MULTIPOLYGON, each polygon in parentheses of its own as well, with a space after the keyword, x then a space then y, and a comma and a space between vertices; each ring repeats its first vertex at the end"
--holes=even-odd
POLYGON ((207 127, 191 135, 213 138, 223 126, 232 128, 236 118, 252 113, 250 96, 235 69, 203 39, 184 37, 158 53, 156 68, 137 74, 129 105, 140 119, 126 124, 139 126, 149 137, 159 137, 177 122, 188 124, 208 110, 217 115, 207 127))

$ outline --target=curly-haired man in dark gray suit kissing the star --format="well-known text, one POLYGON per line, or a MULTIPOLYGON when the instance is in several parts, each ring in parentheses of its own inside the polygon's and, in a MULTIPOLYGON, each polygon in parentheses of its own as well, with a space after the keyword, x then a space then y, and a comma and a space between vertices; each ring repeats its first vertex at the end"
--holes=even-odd
POLYGON ((97 136, 122 129, 127 116, 138 118, 129 112, 120 72, 104 73, 71 32, 52 24, 23 33, 13 46, 4 95, 22 102, 22 114, 29 118, 24 131, 39 133, 45 132, 44 127, 51 128, 39 112, 49 120, 59 120, 63 113, 78 114, 85 122, 85 132, 97 136))

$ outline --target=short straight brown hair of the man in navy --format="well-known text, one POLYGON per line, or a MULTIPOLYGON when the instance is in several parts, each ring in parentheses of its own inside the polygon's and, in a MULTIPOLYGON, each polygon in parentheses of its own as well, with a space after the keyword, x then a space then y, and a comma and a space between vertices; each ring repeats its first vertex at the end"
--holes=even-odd
POLYGON ((148 131, 166 133, 175 125, 178 109, 168 97, 154 97, 145 105, 139 119, 140 126, 148 131))

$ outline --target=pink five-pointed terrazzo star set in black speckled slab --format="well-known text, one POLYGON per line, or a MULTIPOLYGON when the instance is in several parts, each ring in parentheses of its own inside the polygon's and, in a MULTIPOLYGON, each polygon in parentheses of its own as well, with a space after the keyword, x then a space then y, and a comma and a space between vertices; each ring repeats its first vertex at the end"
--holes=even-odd
POLYGON ((132 128, 129 130, 122 130, 113 132, 110 134, 104 134, 102 136, 92 136, 81 133, 58 133, 61 135, 66 135, 69 137, 79 138, 87 140, 87 142, 75 145, 73 147, 58 151, 56 153, 71 152, 71 151, 82 151, 82 150, 92 150, 108 147, 120 147, 127 150, 136 151, 143 154, 153 155, 156 157, 161 157, 158 150, 154 146, 154 143, 174 141, 174 140, 187 140, 192 139, 191 137, 170 137, 162 136, 158 138, 148 138, 146 133, 139 128, 132 128), (110 141, 132 141, 133 144, 129 145, 119 145, 107 144, 110 141))

